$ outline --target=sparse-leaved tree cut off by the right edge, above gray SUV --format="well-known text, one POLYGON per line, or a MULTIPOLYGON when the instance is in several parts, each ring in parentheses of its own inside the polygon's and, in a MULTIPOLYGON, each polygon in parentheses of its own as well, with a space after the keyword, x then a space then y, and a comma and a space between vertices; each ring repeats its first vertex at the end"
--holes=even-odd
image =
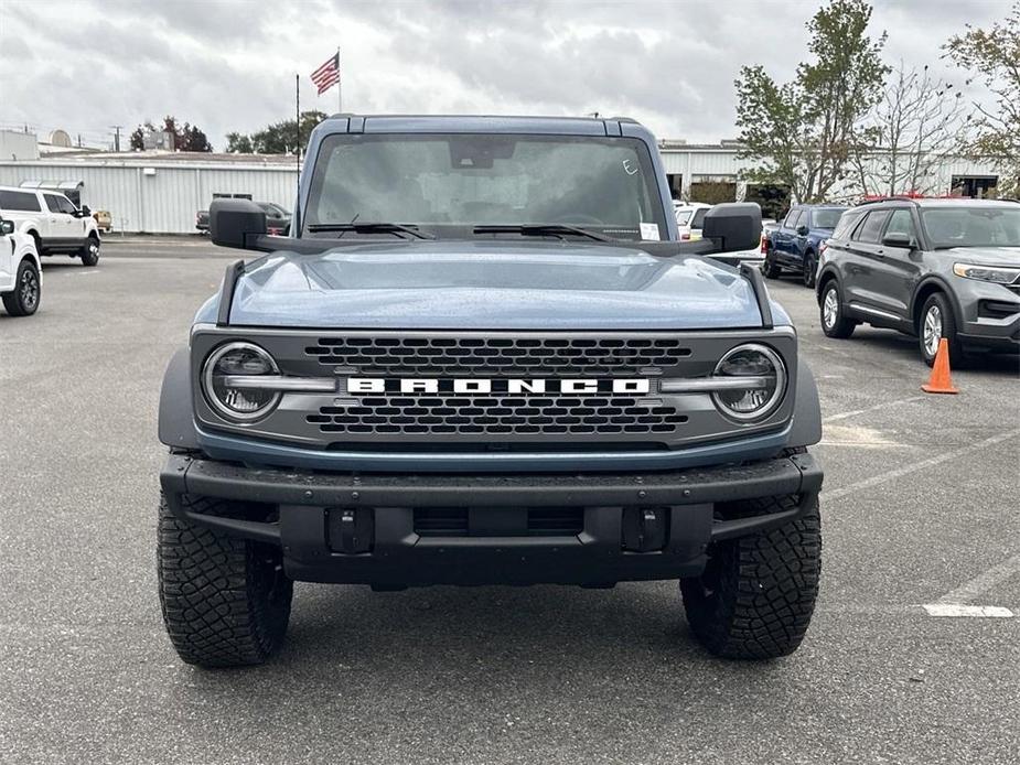
POLYGON ((944 47, 957 66, 984 83, 996 104, 974 105, 976 134, 968 152, 994 161, 1005 174, 1000 194, 1020 194, 1020 3, 990 29, 967 24, 966 34, 951 37, 944 47))

